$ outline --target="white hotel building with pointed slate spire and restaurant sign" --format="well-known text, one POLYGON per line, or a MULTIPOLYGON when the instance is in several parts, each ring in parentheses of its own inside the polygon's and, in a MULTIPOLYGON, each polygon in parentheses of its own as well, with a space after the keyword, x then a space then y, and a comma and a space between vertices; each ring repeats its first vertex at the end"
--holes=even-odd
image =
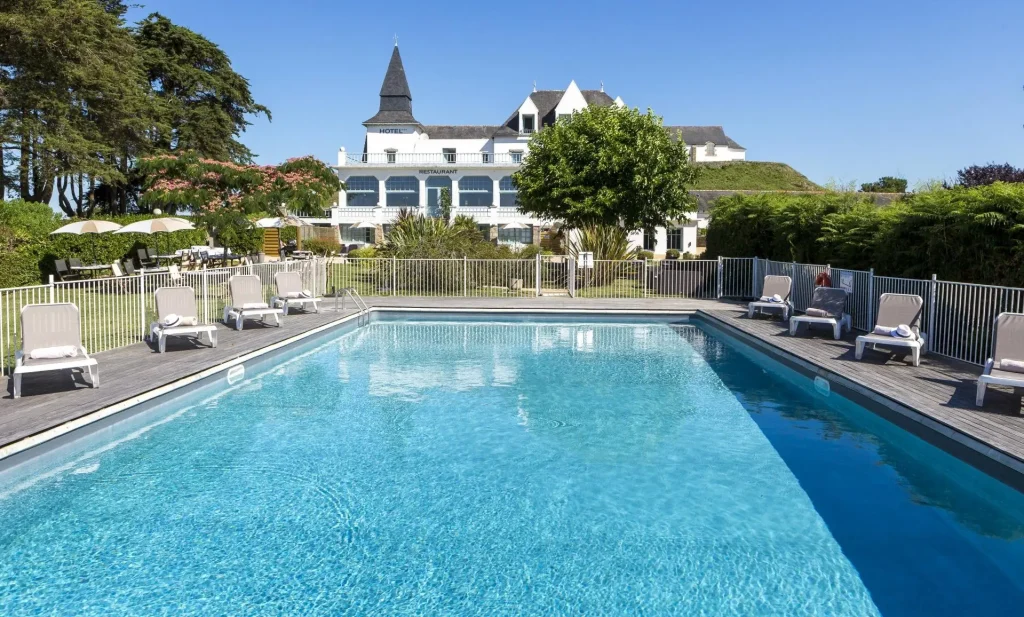
MULTIPOLYGON (((330 222, 343 244, 371 244, 381 238, 403 208, 439 214, 439 196, 451 190, 453 214, 473 217, 499 243, 539 243, 541 221, 518 211, 512 174, 529 155, 530 135, 558 118, 589 105, 624 105, 600 90, 535 90, 501 125, 424 125, 413 116, 413 95, 397 45, 391 53, 380 107, 364 122, 361 152, 338 151, 337 171, 345 183, 330 222)), ((722 127, 668 127, 690 144, 691 159, 738 161, 746 151, 722 127)), ((316 222, 327 222, 323 219, 316 222)), ((668 249, 696 252, 696 222, 658 229, 635 241, 664 254, 668 249)))

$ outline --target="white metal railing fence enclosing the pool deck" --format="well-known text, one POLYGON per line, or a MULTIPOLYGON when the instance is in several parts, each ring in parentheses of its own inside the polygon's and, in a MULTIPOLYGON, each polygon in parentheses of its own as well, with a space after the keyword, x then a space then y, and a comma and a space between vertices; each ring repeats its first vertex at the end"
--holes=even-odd
POLYGON ((19 345, 18 317, 27 304, 73 302, 81 311, 83 343, 99 352, 140 341, 156 317, 154 292, 185 284, 196 290, 200 319, 220 319, 233 274, 259 276, 269 298, 274 274, 298 270, 303 284, 316 294, 338 295, 353 289, 365 297, 433 296, 462 298, 756 298, 764 276, 794 279, 798 311, 810 304, 818 276, 827 271, 831 284, 849 293, 847 311, 853 326, 869 330, 882 294, 915 294, 925 301, 923 329, 931 352, 983 364, 991 346, 992 321, 999 312, 1024 312, 1024 289, 931 279, 877 276, 871 270, 830 268, 757 258, 717 260, 597 260, 578 263, 568 256, 534 259, 348 259, 241 265, 135 276, 52 281, 0 290, 0 369, 10 368, 19 345))

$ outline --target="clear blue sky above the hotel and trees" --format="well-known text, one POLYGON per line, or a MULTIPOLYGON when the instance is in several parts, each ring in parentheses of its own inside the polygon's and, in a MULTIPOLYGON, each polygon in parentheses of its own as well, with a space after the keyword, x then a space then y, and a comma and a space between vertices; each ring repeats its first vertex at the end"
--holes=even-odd
POLYGON ((269 106, 261 163, 362 147, 393 36, 424 124, 500 124, 570 80, 723 125, 812 180, 1024 166, 1024 2, 142 0, 223 48, 269 106), (519 6, 531 6, 532 13, 519 6))

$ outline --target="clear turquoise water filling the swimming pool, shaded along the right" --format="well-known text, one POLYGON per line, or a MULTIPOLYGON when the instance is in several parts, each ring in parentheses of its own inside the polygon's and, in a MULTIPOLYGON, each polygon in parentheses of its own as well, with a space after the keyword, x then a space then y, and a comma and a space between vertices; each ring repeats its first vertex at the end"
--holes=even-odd
POLYGON ((1024 606, 1020 493, 697 326, 382 320, 204 397, 0 476, 0 615, 1024 606))

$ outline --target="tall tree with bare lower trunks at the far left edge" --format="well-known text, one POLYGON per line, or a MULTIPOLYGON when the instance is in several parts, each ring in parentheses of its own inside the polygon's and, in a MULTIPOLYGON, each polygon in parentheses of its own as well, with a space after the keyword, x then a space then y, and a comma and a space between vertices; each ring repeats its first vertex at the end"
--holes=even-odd
POLYGON ((141 135, 147 99, 118 6, 10 0, 0 10, 0 143, 13 167, 4 183, 25 201, 48 203, 74 178, 78 207, 63 190, 59 204, 88 215, 85 186, 123 179, 118 153, 141 135))

